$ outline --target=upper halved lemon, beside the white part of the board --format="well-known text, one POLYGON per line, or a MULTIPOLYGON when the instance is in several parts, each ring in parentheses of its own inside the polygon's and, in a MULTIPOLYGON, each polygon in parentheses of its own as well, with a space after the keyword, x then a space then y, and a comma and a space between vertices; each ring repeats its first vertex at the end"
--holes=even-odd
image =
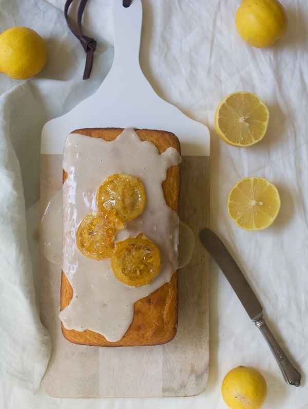
POLYGON ((218 135, 232 146, 251 146, 267 131, 269 111, 253 92, 238 91, 227 95, 215 113, 218 135))

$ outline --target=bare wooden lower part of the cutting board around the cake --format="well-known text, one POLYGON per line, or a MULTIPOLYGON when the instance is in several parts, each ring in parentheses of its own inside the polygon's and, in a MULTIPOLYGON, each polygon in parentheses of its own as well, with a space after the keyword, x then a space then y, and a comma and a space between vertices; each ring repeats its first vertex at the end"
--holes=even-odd
MULTIPOLYGON (((198 239, 209 225, 209 157, 183 156, 180 219, 195 234, 190 263, 179 270, 179 325, 174 340, 145 347, 91 347, 61 332, 61 266, 41 256, 41 320, 52 353, 42 380, 56 398, 141 398, 198 395, 208 378, 209 257, 198 239)), ((41 155, 41 213, 62 189, 62 155, 41 155)))

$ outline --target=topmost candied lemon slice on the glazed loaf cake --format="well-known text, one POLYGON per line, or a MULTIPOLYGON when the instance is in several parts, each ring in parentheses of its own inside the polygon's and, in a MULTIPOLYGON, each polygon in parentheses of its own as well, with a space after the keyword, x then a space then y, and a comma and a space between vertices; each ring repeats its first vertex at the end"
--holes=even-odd
POLYGON ((142 212, 145 201, 143 185, 125 173, 108 176, 97 191, 96 201, 99 210, 107 210, 123 222, 131 220, 142 212))

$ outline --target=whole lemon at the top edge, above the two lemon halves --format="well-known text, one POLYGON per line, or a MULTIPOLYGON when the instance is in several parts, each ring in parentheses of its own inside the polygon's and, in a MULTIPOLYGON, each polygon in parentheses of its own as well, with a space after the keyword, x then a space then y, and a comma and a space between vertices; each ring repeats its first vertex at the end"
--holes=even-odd
POLYGON ((235 15, 241 38, 258 48, 271 47, 287 29, 287 15, 278 0, 243 0, 235 15))

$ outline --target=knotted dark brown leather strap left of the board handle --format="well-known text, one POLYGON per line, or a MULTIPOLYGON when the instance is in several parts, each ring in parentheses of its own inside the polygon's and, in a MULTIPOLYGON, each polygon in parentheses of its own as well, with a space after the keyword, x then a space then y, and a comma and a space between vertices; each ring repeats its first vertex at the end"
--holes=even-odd
POLYGON ((81 25, 82 15, 83 15, 83 12, 84 12, 84 9, 86 7, 88 0, 81 0, 79 7, 78 7, 78 12, 77 12, 78 30, 76 30, 72 26, 72 24, 69 22, 68 9, 73 1, 74 0, 66 1, 65 6, 64 6, 64 15, 65 15, 65 20, 67 22, 69 29, 74 34, 74 36, 78 38, 78 40, 81 42, 81 45, 83 46, 83 49, 85 53, 87 54, 86 65, 85 65, 85 70, 84 70, 84 75, 83 75, 83 80, 87 80, 88 78, 90 78, 92 64, 93 64, 93 54, 96 49, 97 42, 94 39, 84 35, 82 32, 82 25, 81 25))

